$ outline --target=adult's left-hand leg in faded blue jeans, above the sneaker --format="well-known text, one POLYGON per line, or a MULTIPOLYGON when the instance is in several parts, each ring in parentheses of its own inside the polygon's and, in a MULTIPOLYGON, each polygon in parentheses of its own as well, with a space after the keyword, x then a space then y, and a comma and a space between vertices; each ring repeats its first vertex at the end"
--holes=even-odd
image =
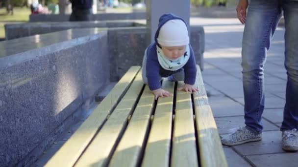
POLYGON ((279 0, 251 0, 242 42, 245 124, 261 133, 264 110, 264 64, 281 17, 279 0))

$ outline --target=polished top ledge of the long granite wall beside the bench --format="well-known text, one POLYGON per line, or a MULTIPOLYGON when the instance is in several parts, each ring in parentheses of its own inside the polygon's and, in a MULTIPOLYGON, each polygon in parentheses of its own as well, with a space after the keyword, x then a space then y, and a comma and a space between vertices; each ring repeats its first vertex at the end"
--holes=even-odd
POLYGON ((69 29, 0 42, 0 69, 97 39, 102 31, 105 29, 69 29))

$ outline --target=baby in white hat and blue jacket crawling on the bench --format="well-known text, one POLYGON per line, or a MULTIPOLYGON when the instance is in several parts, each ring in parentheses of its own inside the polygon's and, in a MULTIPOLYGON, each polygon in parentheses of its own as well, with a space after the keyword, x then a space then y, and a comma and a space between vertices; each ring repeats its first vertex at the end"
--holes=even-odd
POLYGON ((155 42, 145 50, 143 59, 143 82, 149 85, 158 97, 169 97, 170 92, 161 88, 162 77, 169 81, 184 81, 178 90, 198 91, 196 82, 197 67, 192 46, 189 43, 185 21, 173 14, 164 14, 159 18, 155 42))

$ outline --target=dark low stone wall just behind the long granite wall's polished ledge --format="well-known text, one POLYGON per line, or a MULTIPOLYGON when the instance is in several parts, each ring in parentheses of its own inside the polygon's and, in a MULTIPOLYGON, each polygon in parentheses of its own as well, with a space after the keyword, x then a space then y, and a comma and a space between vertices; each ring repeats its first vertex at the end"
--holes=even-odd
POLYGON ((45 34, 74 28, 128 27, 134 26, 134 21, 78 21, 78 22, 28 22, 5 24, 5 39, 12 40, 37 34, 45 34))

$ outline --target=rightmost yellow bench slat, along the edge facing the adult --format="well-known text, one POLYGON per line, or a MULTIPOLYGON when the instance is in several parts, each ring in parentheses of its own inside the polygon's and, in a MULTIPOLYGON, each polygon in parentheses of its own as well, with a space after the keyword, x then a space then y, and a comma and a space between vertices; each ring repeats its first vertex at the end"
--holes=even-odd
POLYGON ((199 88, 199 92, 194 93, 194 102, 199 136, 200 165, 201 167, 227 167, 223 146, 198 65, 196 85, 199 88))

